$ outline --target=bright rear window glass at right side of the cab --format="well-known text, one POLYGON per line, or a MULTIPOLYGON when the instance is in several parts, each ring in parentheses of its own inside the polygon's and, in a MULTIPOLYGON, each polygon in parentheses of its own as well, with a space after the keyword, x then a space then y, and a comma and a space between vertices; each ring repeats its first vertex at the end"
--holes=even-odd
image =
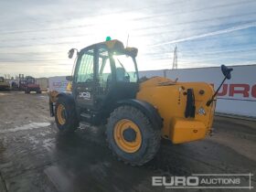
POLYGON ((113 55, 117 80, 137 82, 138 76, 133 58, 126 55, 113 55))

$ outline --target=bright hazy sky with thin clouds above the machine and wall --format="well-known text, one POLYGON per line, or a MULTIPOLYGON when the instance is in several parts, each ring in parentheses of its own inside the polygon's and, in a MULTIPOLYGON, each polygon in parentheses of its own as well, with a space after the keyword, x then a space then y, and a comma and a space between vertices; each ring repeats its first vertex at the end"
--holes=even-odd
POLYGON ((70 75, 70 48, 110 36, 139 48, 139 70, 256 64, 255 0, 0 2, 0 75, 70 75))

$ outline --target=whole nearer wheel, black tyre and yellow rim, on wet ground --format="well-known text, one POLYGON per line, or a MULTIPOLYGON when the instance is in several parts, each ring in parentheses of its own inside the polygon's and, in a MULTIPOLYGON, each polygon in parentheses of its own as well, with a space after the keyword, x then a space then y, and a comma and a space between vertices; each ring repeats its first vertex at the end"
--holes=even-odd
POLYGON ((124 163, 144 165, 157 153, 160 129, 133 106, 124 105, 112 112, 107 123, 107 141, 114 155, 124 163))

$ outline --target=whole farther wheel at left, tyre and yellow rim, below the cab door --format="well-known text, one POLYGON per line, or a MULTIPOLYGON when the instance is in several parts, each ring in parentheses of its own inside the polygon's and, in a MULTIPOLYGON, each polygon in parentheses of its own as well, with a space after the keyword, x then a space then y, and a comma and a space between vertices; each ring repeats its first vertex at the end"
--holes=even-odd
POLYGON ((64 97, 59 97, 55 105, 55 122, 60 132, 74 132, 79 127, 75 104, 64 97))

